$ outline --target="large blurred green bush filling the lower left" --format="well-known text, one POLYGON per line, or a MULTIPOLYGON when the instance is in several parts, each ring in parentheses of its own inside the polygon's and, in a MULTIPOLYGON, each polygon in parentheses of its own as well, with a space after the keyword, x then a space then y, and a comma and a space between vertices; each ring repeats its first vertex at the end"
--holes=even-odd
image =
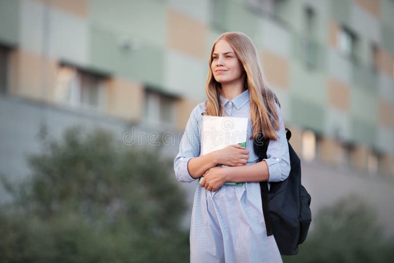
POLYGON ((26 180, 2 177, 0 262, 188 262, 184 193, 153 148, 80 128, 43 143, 26 180))

